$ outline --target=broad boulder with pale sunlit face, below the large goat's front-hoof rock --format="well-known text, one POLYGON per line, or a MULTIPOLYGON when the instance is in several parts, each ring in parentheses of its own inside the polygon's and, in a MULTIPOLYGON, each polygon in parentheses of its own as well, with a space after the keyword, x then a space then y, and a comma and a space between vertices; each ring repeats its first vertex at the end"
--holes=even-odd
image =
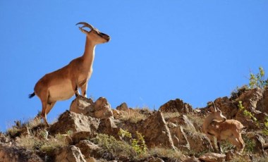
POLYGON ((79 113, 66 111, 61 114, 59 120, 49 127, 52 135, 57 133, 64 134, 69 130, 73 132, 86 131, 95 135, 99 127, 99 119, 83 116, 79 113))

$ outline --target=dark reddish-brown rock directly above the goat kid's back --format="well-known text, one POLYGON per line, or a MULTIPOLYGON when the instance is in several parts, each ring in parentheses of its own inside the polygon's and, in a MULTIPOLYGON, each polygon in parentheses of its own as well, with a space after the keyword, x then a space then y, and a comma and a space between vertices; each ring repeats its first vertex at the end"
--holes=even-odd
POLYGON ((214 104, 221 110, 226 118, 234 118, 238 112, 237 104, 234 104, 227 96, 216 99, 214 104))

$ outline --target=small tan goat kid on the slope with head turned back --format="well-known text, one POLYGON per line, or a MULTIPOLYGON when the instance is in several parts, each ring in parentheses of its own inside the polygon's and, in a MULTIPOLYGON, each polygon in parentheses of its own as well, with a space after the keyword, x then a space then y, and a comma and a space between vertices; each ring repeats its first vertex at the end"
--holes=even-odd
POLYGON ((240 153, 243 152, 245 142, 241 137, 241 131, 243 125, 238 120, 226 120, 226 117, 222 115, 221 111, 217 107, 211 107, 211 113, 205 118, 202 125, 203 132, 209 137, 214 150, 217 150, 214 142, 214 137, 217 139, 218 151, 221 154, 221 140, 228 140, 231 144, 240 149, 240 153))

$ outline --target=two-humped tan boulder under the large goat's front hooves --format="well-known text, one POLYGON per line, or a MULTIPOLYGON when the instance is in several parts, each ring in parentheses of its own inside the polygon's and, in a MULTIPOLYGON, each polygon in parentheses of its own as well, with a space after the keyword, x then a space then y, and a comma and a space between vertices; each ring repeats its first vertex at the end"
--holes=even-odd
POLYGON ((91 116, 93 118, 113 117, 111 105, 104 97, 99 97, 99 99, 97 99, 94 103, 92 99, 78 96, 72 101, 70 111, 81 113, 85 116, 91 116))

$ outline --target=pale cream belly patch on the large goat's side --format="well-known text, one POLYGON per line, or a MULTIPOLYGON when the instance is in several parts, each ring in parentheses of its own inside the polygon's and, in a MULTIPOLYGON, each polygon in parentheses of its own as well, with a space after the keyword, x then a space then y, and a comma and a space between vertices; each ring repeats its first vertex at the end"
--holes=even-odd
POLYGON ((65 80, 59 85, 49 87, 49 102, 70 99, 75 92, 71 84, 71 80, 65 80))

